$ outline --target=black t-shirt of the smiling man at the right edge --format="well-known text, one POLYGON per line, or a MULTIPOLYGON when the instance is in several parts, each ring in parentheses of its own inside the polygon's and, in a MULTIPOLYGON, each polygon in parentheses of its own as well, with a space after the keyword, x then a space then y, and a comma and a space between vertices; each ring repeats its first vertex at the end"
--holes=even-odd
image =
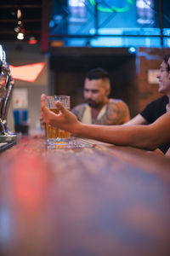
MULTIPOLYGON (((167 112, 166 105, 168 102, 168 97, 162 96, 156 101, 148 104, 140 114, 151 124, 155 122, 156 119, 158 119, 162 114, 167 112)), ((160 147, 164 154, 167 152, 168 148, 170 148, 170 143, 164 144, 160 147)))

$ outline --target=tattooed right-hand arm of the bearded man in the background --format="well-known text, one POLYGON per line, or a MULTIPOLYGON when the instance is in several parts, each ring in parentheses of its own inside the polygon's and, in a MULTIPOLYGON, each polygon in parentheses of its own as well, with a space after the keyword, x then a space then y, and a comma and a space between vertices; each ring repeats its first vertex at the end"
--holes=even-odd
POLYGON ((108 103, 105 114, 98 120, 96 125, 122 125, 130 119, 127 104, 121 100, 112 100, 108 103))

